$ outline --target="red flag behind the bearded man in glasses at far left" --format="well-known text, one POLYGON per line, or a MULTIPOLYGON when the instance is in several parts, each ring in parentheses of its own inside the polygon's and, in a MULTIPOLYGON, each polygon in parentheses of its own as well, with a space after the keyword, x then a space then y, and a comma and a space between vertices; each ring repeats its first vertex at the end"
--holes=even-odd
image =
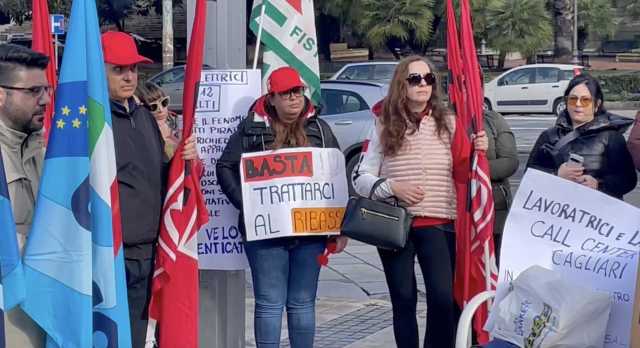
POLYGON ((51 118, 53 116, 53 108, 55 105, 53 96, 55 95, 55 88, 58 84, 58 79, 56 77, 58 57, 55 56, 53 41, 51 40, 51 18, 49 17, 47 0, 33 0, 31 6, 33 9, 31 49, 49 57, 49 65, 47 66, 46 71, 47 81, 49 81, 49 85, 54 89, 53 93, 51 93, 51 103, 47 105, 47 109, 44 114, 44 139, 46 142, 49 139, 51 118))

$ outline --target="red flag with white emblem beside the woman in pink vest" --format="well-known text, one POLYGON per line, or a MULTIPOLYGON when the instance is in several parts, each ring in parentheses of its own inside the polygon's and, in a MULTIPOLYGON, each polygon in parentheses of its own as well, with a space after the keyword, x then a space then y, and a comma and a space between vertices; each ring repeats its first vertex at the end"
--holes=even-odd
MULTIPOLYGON (((447 1, 449 68, 453 84, 450 98, 459 123, 465 130, 478 132, 483 129, 483 91, 480 81, 480 65, 473 39, 473 27, 469 1, 460 1, 461 41, 457 39, 452 0, 447 1), (458 50, 461 48, 461 52, 458 50), (453 53, 453 54, 452 54, 453 53)), ((493 245, 494 206, 489 172, 489 162, 484 152, 474 151, 471 156, 468 180, 456 186, 458 218, 456 220, 456 275, 455 296, 465 305, 473 296, 494 290, 498 279, 493 245)), ((480 343, 486 343, 488 334, 482 327, 488 317, 488 306, 476 313, 474 329, 480 343)))

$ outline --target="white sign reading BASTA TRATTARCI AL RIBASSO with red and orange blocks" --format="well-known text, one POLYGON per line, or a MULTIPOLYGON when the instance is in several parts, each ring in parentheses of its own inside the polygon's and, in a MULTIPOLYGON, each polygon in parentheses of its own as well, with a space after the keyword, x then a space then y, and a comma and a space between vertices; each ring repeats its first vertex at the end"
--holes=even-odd
POLYGON ((240 173, 247 240, 340 234, 349 199, 340 150, 248 153, 240 173))

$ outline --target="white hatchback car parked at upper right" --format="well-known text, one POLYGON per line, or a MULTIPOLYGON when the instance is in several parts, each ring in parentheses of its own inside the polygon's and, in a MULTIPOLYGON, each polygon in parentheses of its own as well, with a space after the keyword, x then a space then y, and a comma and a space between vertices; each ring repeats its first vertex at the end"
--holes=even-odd
POLYGON ((484 108, 501 113, 554 113, 566 108, 564 90, 577 71, 568 64, 530 64, 506 71, 484 85, 484 108))

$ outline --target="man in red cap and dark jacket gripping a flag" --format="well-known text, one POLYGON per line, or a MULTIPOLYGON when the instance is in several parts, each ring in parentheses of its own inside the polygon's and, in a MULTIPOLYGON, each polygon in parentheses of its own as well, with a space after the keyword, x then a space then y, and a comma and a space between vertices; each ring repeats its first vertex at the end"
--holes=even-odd
MULTIPOLYGON (((123 32, 102 34, 102 50, 113 116, 132 346, 137 348, 145 345, 170 158, 153 115, 134 97, 138 64, 152 61, 141 56, 131 35, 123 32)), ((197 159, 194 136, 187 140, 182 157, 197 159)))

